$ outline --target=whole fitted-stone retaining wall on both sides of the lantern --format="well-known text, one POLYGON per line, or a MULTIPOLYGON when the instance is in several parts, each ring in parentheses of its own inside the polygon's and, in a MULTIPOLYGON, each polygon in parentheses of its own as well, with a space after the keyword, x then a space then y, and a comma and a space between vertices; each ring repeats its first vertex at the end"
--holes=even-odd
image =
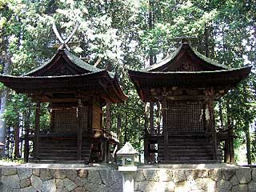
MULTIPOLYGON (((182 166, 181 166, 182 167, 182 166)), ((122 174, 113 167, 0 167, 1 192, 121 192, 122 174)), ((134 174, 140 192, 256 192, 256 168, 145 168, 134 174)))

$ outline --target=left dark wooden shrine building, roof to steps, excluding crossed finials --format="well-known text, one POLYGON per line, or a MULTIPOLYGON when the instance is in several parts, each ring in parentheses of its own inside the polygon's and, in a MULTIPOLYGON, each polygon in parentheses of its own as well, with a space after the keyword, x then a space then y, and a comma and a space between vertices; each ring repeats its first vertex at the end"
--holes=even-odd
POLYGON ((19 77, 0 76, 0 81, 37 103, 34 131, 25 136, 26 159, 32 141, 30 159, 36 162, 109 162, 110 145, 118 140, 102 127, 102 107, 126 100, 114 74, 60 49, 38 69, 19 77), (42 102, 49 102, 47 131, 40 127, 42 102))

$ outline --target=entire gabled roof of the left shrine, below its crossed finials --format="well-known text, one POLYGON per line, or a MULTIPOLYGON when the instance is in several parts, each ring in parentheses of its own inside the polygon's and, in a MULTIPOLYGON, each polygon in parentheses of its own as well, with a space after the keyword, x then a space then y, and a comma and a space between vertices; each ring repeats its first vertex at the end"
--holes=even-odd
MULTIPOLYGON (((123 102, 127 99, 114 73, 98 69, 83 62, 68 50, 58 50, 46 64, 22 76, 1 75, 5 86, 34 97, 62 97, 62 93, 82 93, 81 97, 98 96, 106 102, 123 102), (57 96, 50 96, 56 94, 57 96)), ((50 99, 45 101, 50 101, 50 99)))

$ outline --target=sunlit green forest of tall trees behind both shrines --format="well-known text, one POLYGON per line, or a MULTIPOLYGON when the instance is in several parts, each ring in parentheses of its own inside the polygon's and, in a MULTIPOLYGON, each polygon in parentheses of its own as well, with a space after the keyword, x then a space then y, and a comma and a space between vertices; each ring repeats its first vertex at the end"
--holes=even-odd
MULTIPOLYGON (((118 74, 129 99, 111 105, 111 130, 118 133, 121 144, 130 141, 139 151, 150 109, 138 98, 127 69, 160 61, 178 47, 178 37, 183 36, 193 37, 194 48, 226 66, 253 66, 237 89, 215 102, 215 118, 217 127, 234 127, 237 161, 255 162, 254 0, 0 0, 1 73, 26 74, 49 60, 59 43, 52 30, 54 22, 64 38, 79 22, 69 44, 71 51, 91 65, 118 74)), ((6 157, 22 158, 21 136, 34 129, 35 105, 2 85, 0 90, 6 157)), ((42 109, 41 129, 49 129, 47 105, 42 109)), ((158 108, 153 110, 159 117, 158 108)), ((159 122, 156 118, 155 123, 159 122)))

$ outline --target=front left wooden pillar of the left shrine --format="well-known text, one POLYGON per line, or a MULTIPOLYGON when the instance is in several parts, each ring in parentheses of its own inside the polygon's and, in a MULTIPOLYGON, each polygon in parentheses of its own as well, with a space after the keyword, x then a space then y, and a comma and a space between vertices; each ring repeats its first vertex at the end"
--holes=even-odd
POLYGON ((35 126, 34 126, 34 142, 33 142, 34 159, 38 159, 40 112, 41 112, 41 102, 38 100, 36 110, 35 110, 35 126))

